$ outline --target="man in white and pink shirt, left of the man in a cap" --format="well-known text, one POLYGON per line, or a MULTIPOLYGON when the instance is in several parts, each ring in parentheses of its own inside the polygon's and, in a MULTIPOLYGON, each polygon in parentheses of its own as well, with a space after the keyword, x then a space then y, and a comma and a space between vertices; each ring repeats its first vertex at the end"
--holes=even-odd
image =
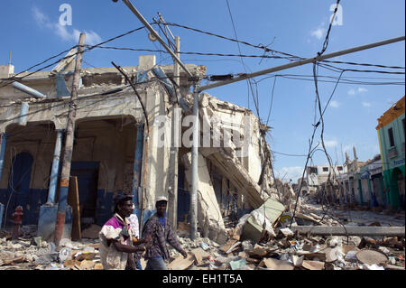
POLYGON ((134 228, 127 219, 133 210, 133 197, 118 195, 115 198, 115 215, 100 230, 100 260, 106 270, 134 270, 133 253, 145 251, 151 242, 149 237, 133 241, 134 228))

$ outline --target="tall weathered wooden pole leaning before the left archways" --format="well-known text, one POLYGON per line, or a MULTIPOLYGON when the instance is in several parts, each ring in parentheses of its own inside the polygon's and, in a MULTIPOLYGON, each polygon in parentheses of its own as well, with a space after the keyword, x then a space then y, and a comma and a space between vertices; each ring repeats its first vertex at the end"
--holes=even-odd
POLYGON ((78 43, 78 56, 76 58, 75 73, 73 74, 73 84, 70 95, 69 115, 66 128, 66 140, 63 152, 62 171, 60 176, 60 199, 58 201, 58 215, 55 227, 55 245, 59 246, 65 226, 66 203, 69 192, 70 163, 72 161, 73 140, 75 132, 76 104, 78 98, 78 86, 80 80, 80 69, 82 66, 83 45, 85 44, 86 34, 81 33, 78 43))

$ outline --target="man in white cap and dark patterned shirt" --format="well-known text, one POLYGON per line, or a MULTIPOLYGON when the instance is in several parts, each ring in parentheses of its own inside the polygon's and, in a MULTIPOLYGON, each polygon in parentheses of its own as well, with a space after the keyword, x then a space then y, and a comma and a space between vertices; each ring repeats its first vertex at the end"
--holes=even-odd
POLYGON ((165 217, 167 204, 166 197, 159 197, 155 204, 156 214, 149 218, 143 227, 143 237, 152 237, 152 246, 147 248, 144 255, 144 258, 148 259, 145 270, 168 270, 165 260, 168 260, 170 255, 166 242, 185 258, 188 255, 180 246, 178 237, 171 229, 168 218, 165 217))

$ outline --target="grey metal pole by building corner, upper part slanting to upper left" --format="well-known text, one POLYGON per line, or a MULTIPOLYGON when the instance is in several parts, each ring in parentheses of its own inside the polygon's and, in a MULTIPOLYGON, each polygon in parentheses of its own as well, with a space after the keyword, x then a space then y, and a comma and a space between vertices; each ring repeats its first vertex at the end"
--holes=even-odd
MULTIPOLYGON (((117 0, 113 0, 117 2, 117 0)), ((161 39, 160 35, 153 30, 150 23, 148 23, 144 18, 143 15, 138 12, 138 10, 134 7, 134 5, 129 0, 123 0, 125 5, 130 8, 130 10, 135 14, 135 16, 143 23, 143 25, 150 31, 152 36, 161 43, 161 45, 168 51, 173 60, 179 64, 179 66, 185 70, 186 74, 188 75, 189 79, 193 79, 193 75, 190 71, 186 68, 186 66, 182 63, 179 58, 179 49, 177 47, 177 53, 171 51, 171 48, 161 39)), ((179 70, 179 69, 178 69, 179 70)), ((179 78, 178 78, 179 79, 179 78)), ((192 144, 192 154, 191 154, 191 190, 190 190, 190 238, 194 240, 196 238, 196 232, 198 230, 198 219, 197 219, 197 199, 198 199, 198 85, 197 81, 195 81, 194 85, 194 101, 193 101, 193 116, 195 116, 194 126, 193 126, 193 144, 192 144)), ((172 132, 173 135, 173 132, 172 132)), ((173 189, 173 188, 172 188, 173 189)), ((176 194, 176 190, 172 190, 174 194, 176 194)))

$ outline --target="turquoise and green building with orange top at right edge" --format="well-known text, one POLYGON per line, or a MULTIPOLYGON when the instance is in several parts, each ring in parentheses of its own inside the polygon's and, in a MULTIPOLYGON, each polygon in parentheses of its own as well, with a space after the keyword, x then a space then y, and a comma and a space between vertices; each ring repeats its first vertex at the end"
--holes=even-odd
POLYGON ((378 118, 376 126, 381 150, 385 196, 393 209, 405 209, 404 106, 403 96, 378 118))

